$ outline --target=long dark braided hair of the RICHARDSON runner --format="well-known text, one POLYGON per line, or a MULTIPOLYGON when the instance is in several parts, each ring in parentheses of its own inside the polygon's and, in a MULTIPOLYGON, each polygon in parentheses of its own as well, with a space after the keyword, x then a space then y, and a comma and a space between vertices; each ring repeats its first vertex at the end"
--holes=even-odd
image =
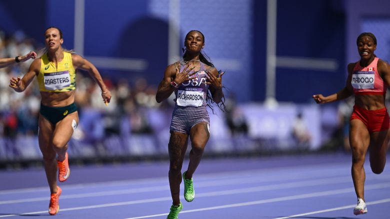
MULTIPOLYGON (((199 32, 202 37, 203 37, 203 43, 204 43, 204 35, 202 32, 200 32, 199 30, 190 30, 189 32, 187 32, 187 34, 185 35, 185 38, 184 40, 187 38, 188 34, 192 31, 196 31, 196 32, 199 32)), ((183 56, 180 60, 180 62, 184 62, 184 58, 187 57, 187 51, 183 48, 183 56)), ((204 52, 200 51, 200 54, 199 54, 199 60, 205 64, 207 64, 208 66, 211 66, 211 67, 214 67, 214 64, 212 64, 211 62, 211 59, 210 57, 208 57, 204 52)), ((218 70, 218 72, 220 73, 221 70, 218 70)), ((225 86, 222 86, 222 88, 225 88, 225 86)), ((215 103, 214 100, 212 99, 212 96, 211 96, 211 92, 210 90, 207 91, 206 93, 206 104, 207 106, 212 110, 212 113, 214 114, 214 108, 212 106, 212 104, 215 103)), ((216 103, 216 105, 218 106, 218 108, 222 111, 222 112, 225 112, 226 111, 226 106, 225 106, 225 97, 223 96, 220 103, 216 103)))

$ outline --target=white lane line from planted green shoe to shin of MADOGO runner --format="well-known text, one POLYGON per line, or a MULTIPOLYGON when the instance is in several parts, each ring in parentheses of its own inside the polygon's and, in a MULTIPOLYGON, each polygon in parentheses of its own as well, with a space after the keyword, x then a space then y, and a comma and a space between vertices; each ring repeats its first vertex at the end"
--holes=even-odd
MULTIPOLYGON (((385 187, 390 187, 390 183, 378 183, 378 184, 368 185, 368 186, 366 186, 365 190, 385 188, 385 187)), ((353 191, 354 191, 353 188, 334 189, 334 190, 328 190, 328 191, 312 192, 312 193, 306 193, 306 194, 298 194, 298 195, 291 195, 291 196, 284 196, 284 197, 277 197, 277 198, 269 198, 269 199, 256 200, 256 201, 218 205, 218 206, 213 206, 213 207, 203 207, 203 208, 197 208, 197 209, 192 209, 192 210, 183 210, 183 211, 180 211, 180 213, 215 210, 215 209, 229 208, 229 207, 240 207, 240 206, 247 206, 247 205, 254 205, 254 204, 271 203, 271 202, 277 202, 277 201, 294 200, 294 199, 302 199, 302 198, 309 198, 309 197, 318 197, 318 196, 325 196, 325 195, 332 195, 332 194, 341 194, 341 193, 348 193, 348 192, 353 192, 353 191)), ((149 217, 156 217, 156 216, 162 216, 162 215, 167 215, 167 214, 168 213, 159 213, 159 214, 152 214, 152 215, 146 215, 146 216, 128 217, 126 219, 149 218, 149 217)))

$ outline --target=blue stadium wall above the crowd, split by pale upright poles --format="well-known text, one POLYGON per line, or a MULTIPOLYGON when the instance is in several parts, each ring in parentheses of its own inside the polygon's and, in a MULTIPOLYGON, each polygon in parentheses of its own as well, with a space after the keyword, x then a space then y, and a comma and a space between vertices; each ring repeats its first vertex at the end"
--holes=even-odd
MULTIPOLYGON (((277 67, 277 100, 307 102, 312 93, 329 94, 343 86, 345 19, 339 2, 277 1, 276 55, 338 63, 333 71, 277 67)), ((55 25, 64 32, 64 47, 73 48, 74 5, 74 0, 1 1, 0 28, 23 29, 42 43, 44 29, 55 25)), ((238 67, 227 69, 224 83, 240 102, 265 98, 266 6, 266 0, 180 1, 177 43, 181 48, 184 34, 200 29, 212 59, 235 61, 238 67)), ((168 0, 85 0, 84 55, 145 59, 143 72, 100 71, 116 79, 144 76, 157 84, 168 64, 167 10, 168 0)))

